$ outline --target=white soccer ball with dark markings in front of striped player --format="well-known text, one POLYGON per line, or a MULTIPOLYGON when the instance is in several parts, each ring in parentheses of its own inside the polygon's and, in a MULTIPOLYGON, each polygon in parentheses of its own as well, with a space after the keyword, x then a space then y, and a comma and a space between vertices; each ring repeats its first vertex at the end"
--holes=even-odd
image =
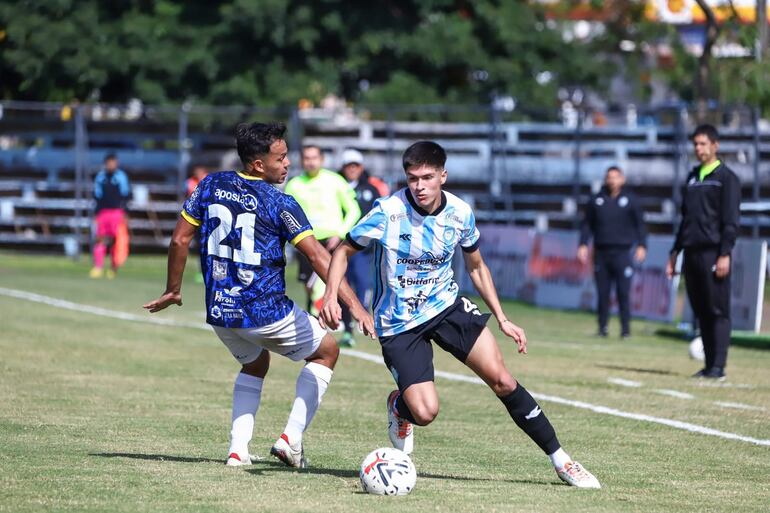
POLYGON ((409 455, 392 447, 370 452, 361 462, 361 488, 374 495, 407 495, 417 481, 409 455))

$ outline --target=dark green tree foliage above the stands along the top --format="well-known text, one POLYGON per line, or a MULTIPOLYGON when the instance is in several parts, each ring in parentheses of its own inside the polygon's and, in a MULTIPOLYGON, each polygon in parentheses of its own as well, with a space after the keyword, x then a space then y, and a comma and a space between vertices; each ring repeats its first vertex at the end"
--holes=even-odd
POLYGON ((602 93, 618 72, 643 89, 651 70, 639 52, 621 58, 618 44, 661 29, 637 23, 640 2, 616 3, 606 32, 578 40, 525 1, 5 0, 0 98, 294 105, 328 94, 368 103, 510 95, 553 109, 560 88, 602 93))

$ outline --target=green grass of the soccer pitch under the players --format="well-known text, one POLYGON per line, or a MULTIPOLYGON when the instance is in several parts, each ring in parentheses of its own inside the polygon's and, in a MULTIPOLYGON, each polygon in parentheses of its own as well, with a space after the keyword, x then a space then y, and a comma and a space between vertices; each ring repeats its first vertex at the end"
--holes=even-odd
MULTIPOLYGON (((4 253, 0 287, 142 315, 141 304, 165 282, 157 257, 130 258, 113 281, 89 280, 87 270, 87 262, 4 253)), ((159 315, 203 322, 202 289, 191 274, 184 307, 159 315)), ((770 439, 770 351, 732 348, 733 386, 704 386, 688 378, 698 365, 686 346, 655 335, 660 324, 635 322, 628 341, 598 340, 590 314, 517 303, 506 310, 530 339, 528 356, 504 342, 506 361, 533 392, 770 439), (612 385, 610 377, 643 386, 612 385)), ((384 366, 350 356, 341 357, 306 434, 309 469, 291 471, 269 457, 226 468, 238 366, 212 332, 5 296, 0 311, 0 511, 754 512, 770 504, 770 447, 542 401, 565 449, 603 484, 568 488, 488 390, 441 378, 441 413, 416 431, 414 492, 363 494, 358 466, 388 445, 384 399, 393 384, 384 366)), ((358 348, 379 353, 372 341, 358 348)), ((440 351, 435 364, 469 374, 440 351)), ((298 371, 273 359, 252 452, 267 456, 280 434, 298 371)))

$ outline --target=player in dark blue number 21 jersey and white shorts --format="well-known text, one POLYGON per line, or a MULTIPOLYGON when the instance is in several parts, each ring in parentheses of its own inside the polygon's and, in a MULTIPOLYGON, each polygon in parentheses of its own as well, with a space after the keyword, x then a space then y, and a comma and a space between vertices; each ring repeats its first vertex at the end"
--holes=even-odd
MULTIPOLYGON (((200 233, 206 284, 206 322, 242 365, 233 388, 227 465, 252 462, 254 430, 268 351, 307 363, 297 378, 289 420, 270 452, 292 467, 304 467, 302 434, 332 377, 339 349, 334 338, 286 297, 284 245, 291 242, 326 277, 331 255, 313 237, 297 202, 274 187, 286 179, 289 158, 282 124, 242 124, 236 141, 243 171, 208 175, 185 201, 171 238, 166 291, 144 305, 158 312, 182 304, 182 274, 190 241, 200 233), (267 350, 267 351, 266 351, 267 350)), ((341 297, 367 335, 373 320, 344 285, 341 297)))

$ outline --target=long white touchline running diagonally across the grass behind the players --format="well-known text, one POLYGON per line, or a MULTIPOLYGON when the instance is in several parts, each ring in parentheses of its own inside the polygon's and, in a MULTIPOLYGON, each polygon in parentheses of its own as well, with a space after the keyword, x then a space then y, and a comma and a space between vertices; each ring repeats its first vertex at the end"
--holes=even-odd
MULTIPOLYGON (((26 292, 23 290, 7 289, 4 287, 0 287, 0 295, 13 297, 16 299, 33 301, 35 303, 42 303, 50 306, 55 306, 57 308, 74 310, 76 312, 86 312, 94 315, 99 315, 102 317, 111 317, 114 319, 122 319, 126 321, 156 324, 156 325, 162 325, 162 326, 177 326, 177 327, 183 327, 183 328, 205 329, 207 331, 211 329, 209 325, 203 324, 203 323, 178 322, 171 319, 150 317, 149 314, 147 314, 146 316, 129 314, 129 313, 115 311, 115 310, 108 310, 106 308, 99 308, 95 306, 83 305, 80 303, 73 303, 72 301, 66 301, 63 299, 43 296, 41 294, 34 294, 32 292, 26 292)), ((379 356, 376 356, 370 353, 364 353, 362 351, 354 351, 351 349, 342 349, 341 351, 348 356, 353 356, 355 358, 368 360, 374 363, 381 364, 383 361, 382 358, 379 356)), ((436 376, 442 377, 444 379, 452 380, 452 381, 462 381, 467 383, 483 384, 483 381, 481 381, 481 379, 475 376, 466 376, 462 374, 455 374, 452 372, 436 371, 436 376)), ((669 426, 676 429, 682 429, 684 431, 689 431, 691 433, 699 433, 702 435, 716 436, 716 437, 725 438, 728 440, 738 440, 741 442, 747 442, 754 445, 764 445, 764 446, 770 447, 770 440, 762 440, 762 439, 752 438, 749 436, 738 435, 735 433, 728 433, 726 431, 719 431, 718 429, 711 429, 705 426, 699 426, 697 424, 690 424, 689 422, 681 422, 678 420, 666 419, 662 417, 654 417, 652 415, 644 415, 641 413, 630 413, 630 412, 625 412, 621 410, 616 410, 615 408, 608 408, 607 406, 600 406, 600 405, 585 403, 583 401, 574 401, 572 399, 565 399, 563 397, 558 397, 554 395, 546 395, 546 394, 539 394, 539 393, 532 392, 532 396, 542 401, 562 404, 565 406, 572 406, 574 408, 589 410, 594 413, 601 413, 603 415, 612 415, 614 417, 621 417, 624 419, 632 419, 632 420, 638 420, 642 422, 662 424, 664 426, 669 426)))

